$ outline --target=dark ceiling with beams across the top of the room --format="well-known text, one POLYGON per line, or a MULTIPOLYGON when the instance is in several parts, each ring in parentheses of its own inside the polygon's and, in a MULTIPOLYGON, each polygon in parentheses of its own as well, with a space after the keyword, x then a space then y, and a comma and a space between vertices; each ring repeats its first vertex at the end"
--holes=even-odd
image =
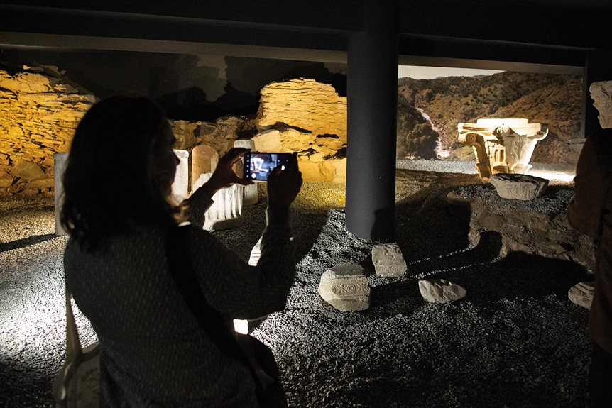
MULTIPOLYGON (((0 47, 48 46, 45 37, 70 35, 96 38, 98 43, 106 39, 105 48, 113 43, 121 48, 121 40, 131 39, 343 55, 349 35, 364 27, 362 4, 356 0, 4 1, 0 47)), ((586 53, 612 49, 609 0, 378 0, 378 4, 398 8, 400 55, 582 66, 586 53)), ((88 46, 87 41, 78 44, 88 46)), ((69 45, 70 41, 63 43, 69 45)))

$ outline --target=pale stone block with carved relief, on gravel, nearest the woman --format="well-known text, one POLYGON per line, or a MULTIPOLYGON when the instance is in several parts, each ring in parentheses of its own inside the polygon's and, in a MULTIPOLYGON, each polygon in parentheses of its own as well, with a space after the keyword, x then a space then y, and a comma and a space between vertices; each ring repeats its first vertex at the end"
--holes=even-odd
POLYGON ((321 275, 319 294, 325 302, 341 311, 370 307, 370 285, 361 265, 334 266, 321 275))

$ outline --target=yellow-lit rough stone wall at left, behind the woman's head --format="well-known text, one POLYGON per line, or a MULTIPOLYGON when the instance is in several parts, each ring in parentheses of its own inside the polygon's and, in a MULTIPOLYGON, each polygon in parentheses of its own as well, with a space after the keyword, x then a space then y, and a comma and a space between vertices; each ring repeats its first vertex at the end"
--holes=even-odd
POLYGON ((53 153, 95 100, 52 67, 0 70, 0 193, 53 194, 53 153))

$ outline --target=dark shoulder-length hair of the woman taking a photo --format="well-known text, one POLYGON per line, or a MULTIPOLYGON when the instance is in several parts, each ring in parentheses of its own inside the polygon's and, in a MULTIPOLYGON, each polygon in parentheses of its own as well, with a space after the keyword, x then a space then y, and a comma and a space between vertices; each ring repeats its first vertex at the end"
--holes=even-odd
POLYGON ((83 116, 64 174, 61 222, 85 248, 137 224, 173 222, 153 160, 164 120, 144 97, 104 99, 83 116))

